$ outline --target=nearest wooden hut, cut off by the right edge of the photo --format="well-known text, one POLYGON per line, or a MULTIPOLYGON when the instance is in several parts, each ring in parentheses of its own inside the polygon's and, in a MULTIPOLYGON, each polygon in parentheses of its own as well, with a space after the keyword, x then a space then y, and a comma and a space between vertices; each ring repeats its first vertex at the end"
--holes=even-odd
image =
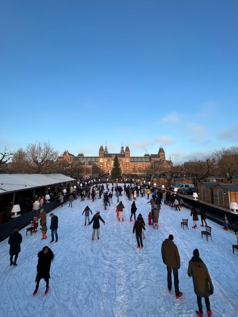
POLYGON ((238 203, 238 184, 217 184, 213 188, 214 205, 230 209, 230 203, 238 203))

